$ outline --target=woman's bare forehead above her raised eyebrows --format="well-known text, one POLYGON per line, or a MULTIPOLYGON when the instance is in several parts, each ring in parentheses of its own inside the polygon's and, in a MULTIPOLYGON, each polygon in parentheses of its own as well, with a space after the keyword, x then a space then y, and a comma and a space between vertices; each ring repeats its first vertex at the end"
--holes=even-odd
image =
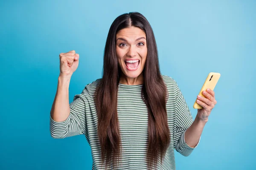
POLYGON ((123 28, 120 31, 118 31, 116 34, 116 39, 119 37, 130 40, 136 40, 138 37, 146 38, 146 34, 142 29, 132 26, 128 28, 123 28))

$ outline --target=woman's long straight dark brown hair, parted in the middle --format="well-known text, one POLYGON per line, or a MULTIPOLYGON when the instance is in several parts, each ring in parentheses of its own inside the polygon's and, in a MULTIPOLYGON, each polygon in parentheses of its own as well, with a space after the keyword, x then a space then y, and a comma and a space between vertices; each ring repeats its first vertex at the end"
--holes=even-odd
POLYGON ((161 163, 170 142, 167 123, 167 90, 160 74, 157 45, 148 20, 138 12, 130 12, 117 17, 108 32, 104 51, 103 76, 96 89, 96 109, 98 113, 98 135, 101 146, 102 163, 106 167, 112 160, 113 167, 120 161, 121 142, 117 117, 117 91, 121 70, 116 57, 116 33, 130 26, 142 29, 146 34, 147 58, 143 69, 144 84, 142 98, 148 108, 148 169, 161 163))

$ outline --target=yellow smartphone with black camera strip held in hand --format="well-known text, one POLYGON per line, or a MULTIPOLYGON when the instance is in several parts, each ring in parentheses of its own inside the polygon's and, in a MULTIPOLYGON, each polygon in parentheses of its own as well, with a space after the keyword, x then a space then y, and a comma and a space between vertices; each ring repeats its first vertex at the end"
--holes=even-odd
MULTIPOLYGON (((199 96, 204 97, 202 94, 203 91, 206 91, 207 88, 213 90, 218 82, 218 79, 221 77, 221 74, 211 72, 208 74, 207 79, 204 82, 203 87, 201 88, 201 91, 199 92, 199 96)), ((197 100, 197 99, 196 99, 197 100)), ((198 105, 195 100, 195 103, 193 105, 193 108, 195 109, 202 109, 203 107, 201 105, 198 105)))

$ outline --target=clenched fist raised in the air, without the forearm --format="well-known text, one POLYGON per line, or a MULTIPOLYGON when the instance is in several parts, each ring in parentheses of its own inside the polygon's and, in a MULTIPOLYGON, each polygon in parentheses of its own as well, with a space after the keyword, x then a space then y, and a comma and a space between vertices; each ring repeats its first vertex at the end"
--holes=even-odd
POLYGON ((79 54, 75 50, 67 53, 61 53, 60 57, 60 76, 71 77, 76 71, 79 63, 79 54))

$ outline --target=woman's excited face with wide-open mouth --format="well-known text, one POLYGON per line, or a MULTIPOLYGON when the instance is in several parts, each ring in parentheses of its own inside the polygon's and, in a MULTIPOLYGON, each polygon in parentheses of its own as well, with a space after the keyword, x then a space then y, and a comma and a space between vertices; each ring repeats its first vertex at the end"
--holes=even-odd
POLYGON ((134 26, 118 31, 116 34, 116 55, 123 76, 137 78, 142 75, 147 57, 145 32, 134 26))

